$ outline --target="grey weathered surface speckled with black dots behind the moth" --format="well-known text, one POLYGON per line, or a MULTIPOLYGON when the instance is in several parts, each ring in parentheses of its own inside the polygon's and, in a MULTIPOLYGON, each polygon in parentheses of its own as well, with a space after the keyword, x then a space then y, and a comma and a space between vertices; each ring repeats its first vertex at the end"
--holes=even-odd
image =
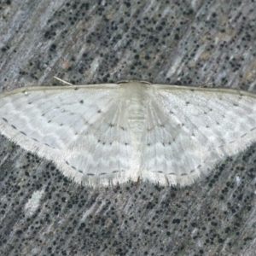
MULTIPOLYGON (((58 76, 256 92, 253 0, 4 0, 0 12, 1 90, 58 76)), ((255 255, 255 161, 252 146, 186 189, 88 189, 0 137, 0 254, 255 255)))

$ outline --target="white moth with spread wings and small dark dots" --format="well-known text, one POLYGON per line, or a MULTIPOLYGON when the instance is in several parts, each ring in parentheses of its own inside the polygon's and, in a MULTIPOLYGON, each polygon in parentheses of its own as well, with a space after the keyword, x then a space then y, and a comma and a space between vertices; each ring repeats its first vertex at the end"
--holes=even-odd
POLYGON ((120 82, 0 95, 0 132, 77 183, 185 186, 256 140, 256 96, 120 82))

